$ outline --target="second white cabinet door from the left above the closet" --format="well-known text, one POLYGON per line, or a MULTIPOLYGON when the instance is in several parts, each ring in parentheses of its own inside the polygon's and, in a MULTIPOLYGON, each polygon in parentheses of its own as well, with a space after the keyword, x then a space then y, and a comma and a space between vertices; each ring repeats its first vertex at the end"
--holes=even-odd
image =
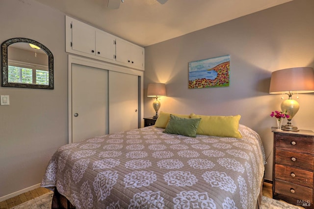
POLYGON ((114 45, 115 37, 97 30, 96 31, 96 55, 107 58, 110 60, 114 60, 115 55, 115 45, 114 45))

